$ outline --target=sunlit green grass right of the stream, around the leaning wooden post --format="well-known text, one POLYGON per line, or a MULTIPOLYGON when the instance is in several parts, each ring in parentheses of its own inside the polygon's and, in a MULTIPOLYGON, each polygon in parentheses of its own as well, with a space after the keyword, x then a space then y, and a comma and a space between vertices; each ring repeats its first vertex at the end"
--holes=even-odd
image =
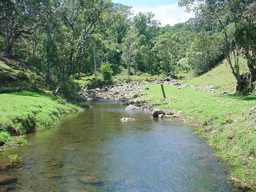
POLYGON ((160 85, 150 85, 145 98, 162 109, 182 111, 185 123, 196 125, 194 131, 202 135, 216 154, 233 169, 230 178, 242 185, 256 186, 256 131, 252 123, 256 115, 249 115, 256 105, 255 96, 220 96, 189 87, 177 89, 166 85, 168 99, 163 99, 160 85))

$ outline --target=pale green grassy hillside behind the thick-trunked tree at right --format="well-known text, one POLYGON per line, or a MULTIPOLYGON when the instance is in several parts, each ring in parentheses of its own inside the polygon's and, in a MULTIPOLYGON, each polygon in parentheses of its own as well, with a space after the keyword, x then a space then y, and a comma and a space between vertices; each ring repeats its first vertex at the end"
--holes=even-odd
MULTIPOLYGON (((239 61, 241 62, 242 66, 241 74, 245 73, 246 60, 239 58, 239 61)), ((199 77, 190 76, 190 79, 186 83, 191 85, 213 85, 220 91, 234 91, 236 87, 236 79, 231 73, 231 69, 226 60, 204 75, 199 77)))

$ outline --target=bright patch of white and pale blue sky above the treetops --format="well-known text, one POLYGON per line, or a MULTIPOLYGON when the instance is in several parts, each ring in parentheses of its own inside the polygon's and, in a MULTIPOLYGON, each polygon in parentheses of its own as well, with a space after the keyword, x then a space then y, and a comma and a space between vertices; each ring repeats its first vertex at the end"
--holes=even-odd
POLYGON ((153 12, 156 20, 165 25, 185 22, 194 17, 194 13, 185 12, 185 8, 178 6, 178 0, 113 0, 133 7, 134 14, 139 12, 153 12))

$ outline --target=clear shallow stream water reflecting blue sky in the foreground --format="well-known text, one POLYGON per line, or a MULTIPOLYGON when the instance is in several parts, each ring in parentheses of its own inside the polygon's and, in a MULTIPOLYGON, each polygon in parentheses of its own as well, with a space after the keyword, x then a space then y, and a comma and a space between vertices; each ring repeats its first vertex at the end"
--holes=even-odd
MULTIPOLYGON (((10 191, 233 191, 225 167, 189 128, 94 102, 54 129, 29 135, 10 191), (135 122, 121 123, 122 117, 135 122)), ((5 189, 4 189, 5 188, 5 189)))

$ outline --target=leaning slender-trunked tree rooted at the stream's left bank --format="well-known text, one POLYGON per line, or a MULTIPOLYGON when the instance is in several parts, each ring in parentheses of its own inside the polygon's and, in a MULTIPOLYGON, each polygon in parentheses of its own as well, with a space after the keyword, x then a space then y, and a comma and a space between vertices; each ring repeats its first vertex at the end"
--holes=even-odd
POLYGON ((67 66, 63 68, 62 77, 54 94, 66 86, 70 75, 81 61, 91 35, 99 29, 103 12, 108 6, 109 1, 103 0, 63 1, 61 19, 64 25, 63 36, 66 37, 63 52, 67 57, 67 66))

